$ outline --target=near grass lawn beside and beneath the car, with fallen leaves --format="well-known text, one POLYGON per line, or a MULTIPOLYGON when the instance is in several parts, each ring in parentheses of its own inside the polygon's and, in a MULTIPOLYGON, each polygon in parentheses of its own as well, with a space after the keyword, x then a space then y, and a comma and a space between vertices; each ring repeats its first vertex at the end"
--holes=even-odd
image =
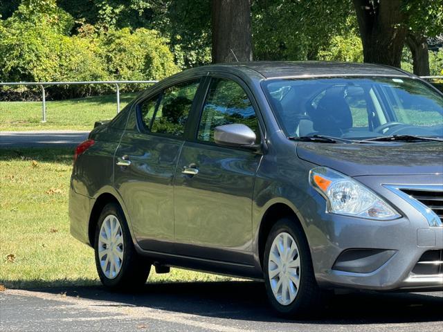
MULTIPOLYGON (((0 285, 98 284, 93 250, 69 234, 72 149, 0 149, 0 285)), ((230 279, 171 269, 149 282, 230 279)))

